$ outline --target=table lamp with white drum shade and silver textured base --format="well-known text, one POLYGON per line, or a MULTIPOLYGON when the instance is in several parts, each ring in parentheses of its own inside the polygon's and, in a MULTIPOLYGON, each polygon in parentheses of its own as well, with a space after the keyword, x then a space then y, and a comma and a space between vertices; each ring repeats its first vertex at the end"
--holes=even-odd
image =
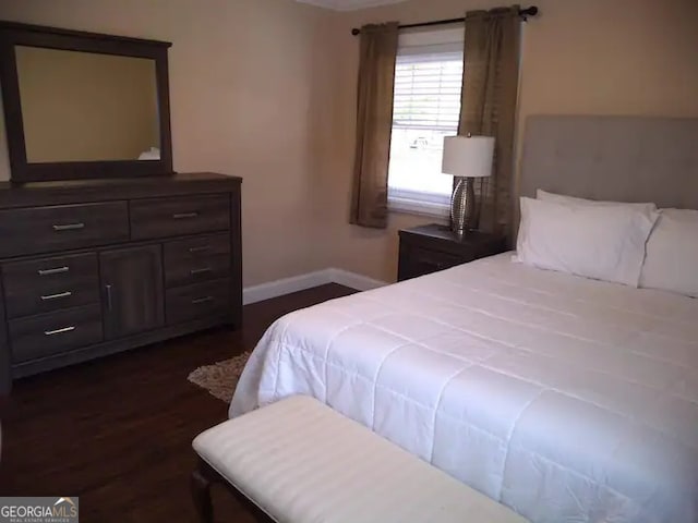
POLYGON ((442 172, 457 179, 450 198, 450 228, 459 235, 478 229, 480 212, 474 179, 492 174, 494 138, 490 136, 448 136, 444 138, 442 172))

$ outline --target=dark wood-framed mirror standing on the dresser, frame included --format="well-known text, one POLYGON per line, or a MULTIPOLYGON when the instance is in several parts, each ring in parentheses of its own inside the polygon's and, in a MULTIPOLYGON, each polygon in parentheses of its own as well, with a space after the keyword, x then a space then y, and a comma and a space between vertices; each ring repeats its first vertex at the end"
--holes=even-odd
POLYGON ((168 47, 0 23, 12 181, 170 174, 168 47))

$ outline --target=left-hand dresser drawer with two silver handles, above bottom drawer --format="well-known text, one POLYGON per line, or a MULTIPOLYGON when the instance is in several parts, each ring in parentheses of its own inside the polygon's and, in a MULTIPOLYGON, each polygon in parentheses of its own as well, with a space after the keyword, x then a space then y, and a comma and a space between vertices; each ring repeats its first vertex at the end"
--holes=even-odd
POLYGON ((2 278, 9 318, 99 302, 95 254, 4 264, 2 278))

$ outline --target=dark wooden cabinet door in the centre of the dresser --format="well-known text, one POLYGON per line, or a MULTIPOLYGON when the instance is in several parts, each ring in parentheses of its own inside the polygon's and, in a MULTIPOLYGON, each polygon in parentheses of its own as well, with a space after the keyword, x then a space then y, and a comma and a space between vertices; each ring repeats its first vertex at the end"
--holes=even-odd
POLYGON ((160 245, 105 251, 99 270, 107 340, 164 325, 160 245))

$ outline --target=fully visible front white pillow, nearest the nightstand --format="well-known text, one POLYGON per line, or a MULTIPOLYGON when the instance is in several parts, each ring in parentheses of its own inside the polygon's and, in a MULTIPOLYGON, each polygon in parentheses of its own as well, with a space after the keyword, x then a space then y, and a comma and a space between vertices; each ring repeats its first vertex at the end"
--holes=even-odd
POLYGON ((628 206, 565 205, 521 197, 519 262, 637 287, 659 212, 628 206))

